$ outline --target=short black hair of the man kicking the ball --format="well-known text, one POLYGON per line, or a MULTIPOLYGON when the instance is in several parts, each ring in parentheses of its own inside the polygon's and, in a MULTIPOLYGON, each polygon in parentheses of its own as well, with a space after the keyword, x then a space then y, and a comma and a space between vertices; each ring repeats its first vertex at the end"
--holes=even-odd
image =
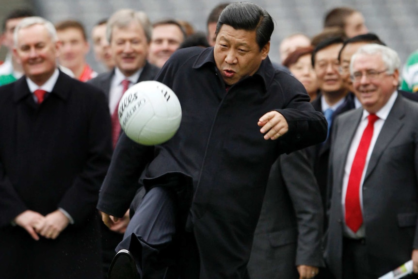
POLYGON ((257 4, 250 2, 235 2, 226 6, 219 16, 216 35, 224 24, 237 30, 255 30, 260 50, 270 41, 274 30, 273 19, 269 13, 257 4))

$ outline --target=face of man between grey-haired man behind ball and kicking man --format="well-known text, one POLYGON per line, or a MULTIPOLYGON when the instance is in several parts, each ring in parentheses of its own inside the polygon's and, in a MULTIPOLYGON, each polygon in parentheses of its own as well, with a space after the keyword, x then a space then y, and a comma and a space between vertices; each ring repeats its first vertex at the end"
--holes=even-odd
POLYGON ((149 44, 149 63, 162 67, 183 41, 184 35, 177 25, 155 26, 152 29, 152 38, 149 44))

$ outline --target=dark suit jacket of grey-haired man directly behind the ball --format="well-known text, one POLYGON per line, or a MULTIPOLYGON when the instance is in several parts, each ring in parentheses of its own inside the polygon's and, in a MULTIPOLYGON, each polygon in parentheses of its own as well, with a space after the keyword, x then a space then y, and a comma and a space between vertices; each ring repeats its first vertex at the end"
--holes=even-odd
MULTIPOLYGON (((146 62, 144 69, 142 70, 141 75, 138 78, 138 82, 154 80, 155 76, 157 76, 159 71, 159 67, 146 62)), ((96 78, 91 79, 87 83, 91 83, 96 87, 100 88, 106 94, 106 98, 109 99, 110 83, 112 82, 113 75, 114 69, 109 72, 98 75, 96 78)))

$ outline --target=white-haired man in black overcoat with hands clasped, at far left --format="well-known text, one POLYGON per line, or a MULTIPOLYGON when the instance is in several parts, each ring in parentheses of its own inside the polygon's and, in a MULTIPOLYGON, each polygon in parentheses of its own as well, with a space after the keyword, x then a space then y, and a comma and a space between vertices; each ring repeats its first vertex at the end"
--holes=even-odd
POLYGON ((49 21, 23 19, 14 39, 25 75, 0 87, 1 277, 101 279, 95 205, 112 152, 106 100, 57 68, 49 21))

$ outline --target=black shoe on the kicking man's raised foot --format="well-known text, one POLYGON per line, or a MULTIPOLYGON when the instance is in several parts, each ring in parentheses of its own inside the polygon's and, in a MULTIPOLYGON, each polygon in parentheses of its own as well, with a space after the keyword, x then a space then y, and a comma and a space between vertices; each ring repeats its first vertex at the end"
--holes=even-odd
POLYGON ((110 264, 108 278, 141 279, 138 270, 136 269, 135 260, 128 250, 122 249, 116 253, 110 264))

